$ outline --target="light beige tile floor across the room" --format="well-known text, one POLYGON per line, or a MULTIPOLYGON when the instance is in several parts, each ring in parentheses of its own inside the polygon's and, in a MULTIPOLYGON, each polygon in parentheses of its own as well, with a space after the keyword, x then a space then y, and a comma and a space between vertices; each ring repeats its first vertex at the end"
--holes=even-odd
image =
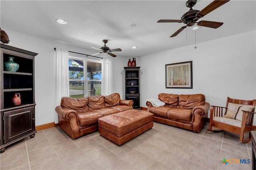
POLYGON ((118 146, 98 132, 71 139, 59 127, 38 131, 0 154, 1 170, 249 170, 252 164, 223 159, 252 158, 252 142, 242 144, 232 133, 208 133, 208 123, 193 133, 154 122, 142 135, 118 146))

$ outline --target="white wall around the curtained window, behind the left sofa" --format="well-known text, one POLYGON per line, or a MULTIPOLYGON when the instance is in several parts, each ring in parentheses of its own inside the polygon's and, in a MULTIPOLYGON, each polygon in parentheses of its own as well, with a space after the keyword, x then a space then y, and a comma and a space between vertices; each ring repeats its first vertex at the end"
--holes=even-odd
MULTIPOLYGON (((38 53, 35 57, 35 101, 36 126, 54 122, 54 87, 55 87, 55 51, 64 48, 84 54, 94 54, 95 51, 58 43, 5 30, 10 39, 8 45, 38 53)), ((113 58, 114 90, 122 95, 122 70, 127 66, 128 59, 124 57, 113 58)))

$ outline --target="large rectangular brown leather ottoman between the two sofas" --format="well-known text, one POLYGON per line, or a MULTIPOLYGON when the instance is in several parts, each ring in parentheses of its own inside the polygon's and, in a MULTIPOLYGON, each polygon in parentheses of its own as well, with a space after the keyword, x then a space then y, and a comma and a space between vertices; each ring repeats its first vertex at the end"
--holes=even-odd
POLYGON ((153 127, 152 113, 131 109, 98 119, 99 133, 117 145, 122 145, 153 127))

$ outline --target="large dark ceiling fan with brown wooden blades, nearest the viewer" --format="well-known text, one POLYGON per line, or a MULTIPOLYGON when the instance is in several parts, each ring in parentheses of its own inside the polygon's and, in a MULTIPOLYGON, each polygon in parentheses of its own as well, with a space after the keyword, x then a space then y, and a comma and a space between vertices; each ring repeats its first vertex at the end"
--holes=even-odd
POLYGON ((159 20, 157 22, 178 22, 178 23, 185 23, 186 26, 181 27, 176 31, 174 34, 172 34, 170 37, 175 37, 180 33, 183 29, 185 29, 187 26, 190 27, 197 23, 198 26, 203 27, 210 27, 210 28, 218 28, 220 27, 223 22, 214 22, 214 21, 199 21, 200 18, 204 17, 206 14, 212 12, 213 10, 216 10, 216 8, 226 4, 229 0, 214 0, 212 3, 210 3, 208 6, 206 6, 201 11, 199 10, 193 10, 192 7, 196 4, 197 0, 188 0, 186 2, 186 6, 190 8, 188 12, 183 14, 180 20, 159 20))

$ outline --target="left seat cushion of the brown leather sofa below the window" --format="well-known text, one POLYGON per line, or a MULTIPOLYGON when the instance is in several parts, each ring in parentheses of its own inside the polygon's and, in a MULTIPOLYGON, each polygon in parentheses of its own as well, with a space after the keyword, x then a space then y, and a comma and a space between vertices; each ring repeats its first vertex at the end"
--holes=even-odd
POLYGON ((103 117, 103 115, 98 113, 98 110, 78 113, 78 122, 80 126, 91 125, 94 123, 98 123, 98 118, 100 117, 103 117))

